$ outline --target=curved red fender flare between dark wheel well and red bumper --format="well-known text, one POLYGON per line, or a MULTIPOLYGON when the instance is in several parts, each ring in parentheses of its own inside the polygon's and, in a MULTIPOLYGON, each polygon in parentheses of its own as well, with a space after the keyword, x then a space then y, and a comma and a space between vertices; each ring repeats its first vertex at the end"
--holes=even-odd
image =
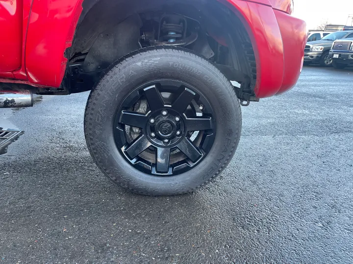
POLYGON ((271 6, 242 0, 222 0, 245 25, 256 59, 257 97, 277 93, 283 80, 283 44, 276 16, 271 6), (278 70, 279 69, 279 70, 278 70))

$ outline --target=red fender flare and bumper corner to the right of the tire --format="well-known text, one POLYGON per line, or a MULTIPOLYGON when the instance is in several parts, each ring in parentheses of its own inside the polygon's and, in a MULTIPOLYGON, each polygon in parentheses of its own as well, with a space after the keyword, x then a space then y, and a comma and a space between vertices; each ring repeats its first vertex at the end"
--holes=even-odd
MULTIPOLYGON (((230 3, 230 8, 235 13, 240 13, 240 19, 243 18, 246 22, 245 25, 247 25, 246 28, 252 40, 256 58, 256 97, 269 97, 294 87, 298 81, 301 66, 296 63, 292 64, 288 60, 299 55, 296 57, 296 61, 300 60, 301 62, 304 56, 305 22, 282 11, 274 10, 269 0, 257 0, 262 4, 239 0, 222 1, 230 3), (276 16, 275 13, 278 15, 276 16), (283 16, 279 14, 283 14, 283 16), (277 17, 280 21, 277 21, 277 17), (284 18, 294 22, 296 26, 288 26, 288 22, 285 22, 284 18), (295 36, 296 34, 299 36, 295 36), (285 37, 284 41, 283 37, 285 37), (288 42, 288 37, 292 38, 292 43, 288 42), (286 50, 284 50, 285 47, 286 50), (285 54, 293 52, 290 47, 294 48, 295 55, 285 54)), ((271 1, 273 3, 280 2, 280 0, 271 1)))

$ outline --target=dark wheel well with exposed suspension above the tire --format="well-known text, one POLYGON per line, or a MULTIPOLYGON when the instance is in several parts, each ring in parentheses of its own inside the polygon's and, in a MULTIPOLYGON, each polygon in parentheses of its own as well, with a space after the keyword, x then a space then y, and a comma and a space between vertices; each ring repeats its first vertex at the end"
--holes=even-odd
POLYGON ((146 5, 145 0, 84 0, 82 8, 73 44, 65 51, 63 85, 70 92, 91 89, 105 68, 138 48, 180 45, 240 83, 235 88, 240 99, 256 100, 256 62, 249 35, 237 15, 218 1, 153 0, 146 5), (176 21, 184 28, 180 32, 176 21), (180 33, 179 38, 172 33, 161 36, 165 24, 174 24, 173 34, 180 33))

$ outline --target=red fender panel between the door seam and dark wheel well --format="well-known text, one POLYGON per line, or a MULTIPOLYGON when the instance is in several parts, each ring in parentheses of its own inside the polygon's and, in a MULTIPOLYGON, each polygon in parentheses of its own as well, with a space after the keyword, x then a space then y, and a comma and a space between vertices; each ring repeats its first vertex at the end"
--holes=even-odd
POLYGON ((25 45, 28 81, 59 87, 67 59, 64 51, 74 38, 82 0, 33 0, 25 45))

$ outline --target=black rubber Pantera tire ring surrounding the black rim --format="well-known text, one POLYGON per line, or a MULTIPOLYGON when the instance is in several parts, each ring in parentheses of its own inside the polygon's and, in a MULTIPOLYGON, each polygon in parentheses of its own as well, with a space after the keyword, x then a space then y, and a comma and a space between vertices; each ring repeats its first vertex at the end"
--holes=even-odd
POLYGON ((85 134, 101 170, 132 191, 172 195, 206 184, 227 165, 239 142, 241 113, 230 83, 204 59, 181 50, 144 52, 111 68, 90 94, 85 134), (178 79, 202 92, 215 112, 216 136, 211 151, 192 170, 176 176, 153 176, 130 165, 117 149, 113 125, 123 99, 138 86, 156 79, 178 79))

